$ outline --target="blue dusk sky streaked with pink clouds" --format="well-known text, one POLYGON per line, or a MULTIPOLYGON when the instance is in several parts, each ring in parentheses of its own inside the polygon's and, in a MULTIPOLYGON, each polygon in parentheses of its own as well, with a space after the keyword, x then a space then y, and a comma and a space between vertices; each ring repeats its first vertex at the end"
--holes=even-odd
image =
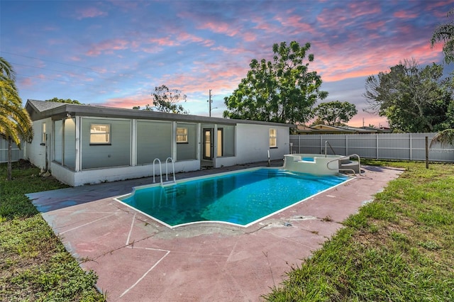
MULTIPOLYGON (((155 86, 187 95, 190 114, 221 117, 223 98, 250 61, 272 45, 311 43, 309 65, 328 91, 348 101, 353 126, 387 125, 362 111, 365 78, 405 59, 441 63, 433 30, 454 3, 383 1, 0 1, 0 56, 27 99, 76 99, 132 108, 153 104, 155 86), (364 119, 364 120, 363 120, 364 119)), ((452 66, 450 67, 452 69, 452 66)))

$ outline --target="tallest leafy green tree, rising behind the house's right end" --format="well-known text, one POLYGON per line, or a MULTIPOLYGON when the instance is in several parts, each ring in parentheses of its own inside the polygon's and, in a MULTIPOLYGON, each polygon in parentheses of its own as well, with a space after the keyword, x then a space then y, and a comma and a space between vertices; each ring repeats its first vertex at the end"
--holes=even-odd
POLYGON ((309 70, 309 62, 314 61, 310 47, 310 43, 282 42, 272 46, 272 61, 252 60, 247 76, 224 99, 223 116, 291 124, 309 121, 316 101, 328 96, 319 90, 319 74, 309 70))

